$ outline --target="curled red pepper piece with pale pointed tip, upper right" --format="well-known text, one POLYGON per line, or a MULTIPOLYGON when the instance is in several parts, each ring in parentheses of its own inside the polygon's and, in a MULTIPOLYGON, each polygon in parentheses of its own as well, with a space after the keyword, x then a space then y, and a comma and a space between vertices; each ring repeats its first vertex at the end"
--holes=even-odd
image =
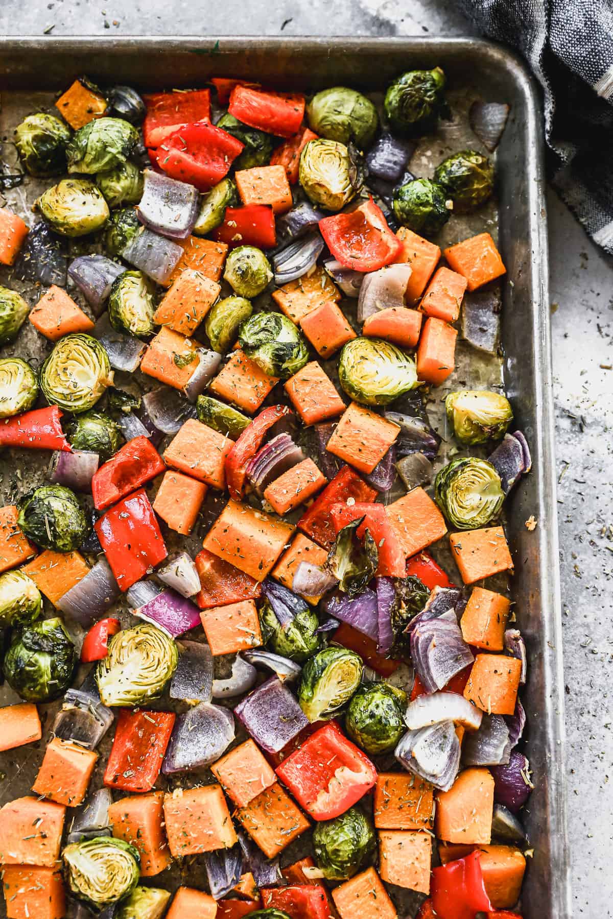
POLYGON ((378 271, 391 265, 403 248, 371 198, 356 210, 324 217, 319 229, 332 255, 354 271, 378 271))

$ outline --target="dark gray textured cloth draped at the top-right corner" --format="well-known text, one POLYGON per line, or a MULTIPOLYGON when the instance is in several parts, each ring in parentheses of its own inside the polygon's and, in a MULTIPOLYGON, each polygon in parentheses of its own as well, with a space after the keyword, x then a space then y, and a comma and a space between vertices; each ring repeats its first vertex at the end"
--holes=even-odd
POLYGON ((613 0, 458 0, 526 58, 544 94, 548 174, 613 255, 613 0))

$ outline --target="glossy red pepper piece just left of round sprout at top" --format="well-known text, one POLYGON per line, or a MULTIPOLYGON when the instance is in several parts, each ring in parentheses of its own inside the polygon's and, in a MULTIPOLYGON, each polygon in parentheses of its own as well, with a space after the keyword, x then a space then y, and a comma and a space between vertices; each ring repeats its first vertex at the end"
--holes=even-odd
POLYGON ((300 93, 267 93, 249 86, 234 86, 228 111, 250 128, 268 134, 291 137, 304 118, 304 96, 300 93))

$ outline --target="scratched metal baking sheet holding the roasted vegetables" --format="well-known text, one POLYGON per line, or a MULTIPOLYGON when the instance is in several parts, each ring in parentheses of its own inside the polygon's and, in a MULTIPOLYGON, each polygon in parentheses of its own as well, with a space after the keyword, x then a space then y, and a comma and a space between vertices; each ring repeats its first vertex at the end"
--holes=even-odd
MULTIPOLYGON (((526 753, 535 785, 526 814, 534 855, 528 859, 522 914, 525 919, 570 919, 545 180, 539 97, 523 64, 509 51, 473 39, 5 39, 0 40, 0 139, 10 138, 24 115, 50 107, 79 74, 101 85, 130 84, 142 91, 199 86, 211 75, 228 75, 279 89, 348 84, 376 94, 403 70, 436 64, 448 76, 454 119, 436 137, 420 142, 411 162, 417 175, 430 174, 448 152, 475 145, 466 117, 473 99, 511 105, 496 152, 497 205, 469 219, 453 217, 437 242, 497 231, 507 267, 502 286, 504 359, 480 357, 460 341, 458 367, 448 388, 499 386, 504 378, 517 425, 532 449, 533 471, 510 496, 506 520, 516 567, 511 591, 517 623, 528 642, 523 700, 528 711, 526 753), (530 516, 538 520, 533 531, 525 526, 530 516)), ((26 185, 5 196, 31 223, 36 194, 36 187, 28 190, 26 185)), ((0 283, 9 280, 0 275, 0 283)), ((24 295, 34 302, 37 292, 24 295)), ((40 336, 31 328, 22 330, 7 353, 29 357, 36 366, 44 357, 40 336)), ((437 418, 440 394, 436 392, 437 404, 430 406, 437 418)), ((25 452, 0 458, 2 504, 13 502, 29 482, 40 482, 45 462, 25 452)), ((210 516, 202 521, 205 529, 207 522, 210 516)), ((198 550, 198 539, 189 548, 198 550)), ((0 703, 12 701, 17 697, 5 687, 0 703)), ((48 735, 56 706, 40 708, 48 735)), ((0 803, 28 793, 43 742, 0 754, 0 803)), ((107 750, 101 750, 101 760, 107 750)), ((96 770, 98 781, 102 766, 96 770)), ((165 872, 155 880, 173 888, 180 880, 196 883, 201 877, 198 862, 194 859, 173 869, 167 879, 165 872)), ((414 901, 397 902, 401 915, 414 915, 414 901)), ((4 903, 4 916, 2 909, 4 903)))

